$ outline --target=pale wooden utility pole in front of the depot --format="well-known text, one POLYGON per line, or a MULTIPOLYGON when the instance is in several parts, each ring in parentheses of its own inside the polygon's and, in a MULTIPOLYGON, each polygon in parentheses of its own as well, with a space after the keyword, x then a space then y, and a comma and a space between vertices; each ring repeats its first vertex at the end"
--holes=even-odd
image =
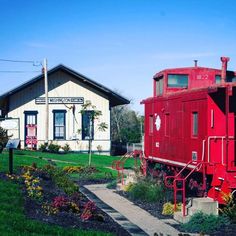
POLYGON ((43 73, 44 73, 44 91, 45 91, 45 144, 48 144, 48 71, 47 71, 47 59, 43 60, 43 73))

